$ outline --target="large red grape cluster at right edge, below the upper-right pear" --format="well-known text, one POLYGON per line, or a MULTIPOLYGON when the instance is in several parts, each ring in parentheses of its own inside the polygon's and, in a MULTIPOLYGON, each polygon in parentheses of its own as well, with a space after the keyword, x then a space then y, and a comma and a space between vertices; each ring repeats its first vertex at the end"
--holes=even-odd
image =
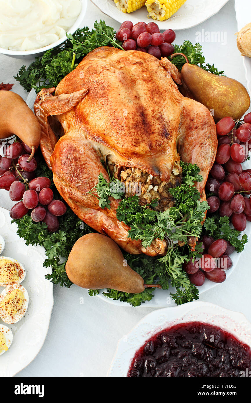
POLYGON ((206 183, 208 211, 230 217, 234 228, 244 231, 247 220, 251 221, 251 170, 243 170, 241 164, 247 160, 251 145, 251 113, 244 121, 221 119, 216 131, 218 150, 206 183))

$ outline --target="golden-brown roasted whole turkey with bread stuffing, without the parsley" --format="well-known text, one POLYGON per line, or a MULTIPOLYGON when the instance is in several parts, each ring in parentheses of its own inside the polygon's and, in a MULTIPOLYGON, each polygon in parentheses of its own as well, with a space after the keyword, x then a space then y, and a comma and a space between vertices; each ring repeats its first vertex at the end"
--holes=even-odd
POLYGON ((197 189, 205 198, 216 156, 209 110, 180 94, 170 65, 143 52, 97 48, 58 84, 55 96, 54 88, 43 89, 34 104, 41 150, 64 200, 81 220, 135 254, 163 254, 166 242, 157 239, 145 249, 127 238, 129 227, 116 218, 119 201, 102 209, 87 193, 100 173, 109 180, 101 161, 124 183, 140 181, 141 204, 157 197, 163 211, 173 203, 168 188, 180 183, 180 159, 201 169, 197 189))

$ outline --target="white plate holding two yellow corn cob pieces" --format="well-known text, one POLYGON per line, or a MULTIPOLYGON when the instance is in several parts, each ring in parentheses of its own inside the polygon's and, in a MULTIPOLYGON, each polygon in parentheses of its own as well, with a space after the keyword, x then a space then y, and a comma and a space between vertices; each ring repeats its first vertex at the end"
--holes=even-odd
POLYGON ((216 14, 228 0, 91 0, 104 14, 122 23, 154 21, 160 29, 195 27, 216 14))

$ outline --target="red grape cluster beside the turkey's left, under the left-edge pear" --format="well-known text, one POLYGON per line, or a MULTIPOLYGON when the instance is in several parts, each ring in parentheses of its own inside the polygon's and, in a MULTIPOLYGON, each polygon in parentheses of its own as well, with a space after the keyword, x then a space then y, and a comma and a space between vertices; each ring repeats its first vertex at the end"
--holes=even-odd
POLYGON ((45 222, 49 232, 59 228, 58 216, 66 213, 66 205, 54 199, 47 177, 35 177, 36 156, 27 162, 29 147, 16 141, 3 149, 0 157, 0 189, 9 191, 10 199, 18 202, 10 210, 10 217, 17 220, 29 210, 34 222, 45 222))

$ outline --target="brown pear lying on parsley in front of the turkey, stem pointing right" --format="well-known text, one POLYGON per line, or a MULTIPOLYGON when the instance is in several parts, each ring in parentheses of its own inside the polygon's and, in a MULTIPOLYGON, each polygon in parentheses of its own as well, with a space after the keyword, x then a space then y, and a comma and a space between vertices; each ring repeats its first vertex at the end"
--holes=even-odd
POLYGON ((127 265, 118 245, 97 233, 86 234, 73 245, 66 273, 82 288, 112 288, 132 294, 145 289, 143 278, 127 265))

